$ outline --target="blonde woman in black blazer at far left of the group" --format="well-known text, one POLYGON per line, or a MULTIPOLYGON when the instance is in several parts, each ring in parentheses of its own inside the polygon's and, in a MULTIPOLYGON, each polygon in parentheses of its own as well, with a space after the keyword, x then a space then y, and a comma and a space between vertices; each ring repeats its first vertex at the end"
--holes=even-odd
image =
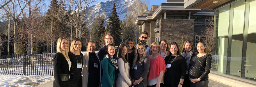
POLYGON ((68 57, 69 42, 60 37, 57 42, 57 53, 54 55, 53 87, 69 87, 71 62, 68 57))

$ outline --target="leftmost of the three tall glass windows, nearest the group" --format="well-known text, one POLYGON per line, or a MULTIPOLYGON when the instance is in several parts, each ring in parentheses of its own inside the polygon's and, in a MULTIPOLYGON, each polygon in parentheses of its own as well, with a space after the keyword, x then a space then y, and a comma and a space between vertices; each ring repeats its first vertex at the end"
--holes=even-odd
POLYGON ((218 46, 217 54, 213 54, 212 59, 212 71, 218 71, 218 73, 226 73, 227 71, 227 46, 228 46, 228 26, 229 26, 229 15, 230 15, 230 4, 216 9, 214 14, 214 30, 218 37, 215 37, 218 46))

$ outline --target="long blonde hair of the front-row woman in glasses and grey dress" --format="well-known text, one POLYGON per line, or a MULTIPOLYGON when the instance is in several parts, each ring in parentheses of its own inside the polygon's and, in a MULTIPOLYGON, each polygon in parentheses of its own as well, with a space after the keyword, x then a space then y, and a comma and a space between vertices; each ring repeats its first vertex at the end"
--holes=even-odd
POLYGON ((132 66, 132 68, 134 68, 134 66, 135 66, 135 64, 136 64, 136 61, 138 60, 138 56, 139 56, 139 55, 138 55, 138 48, 139 48, 140 46, 143 46, 143 48, 144 48, 144 53, 143 53, 143 55, 141 56, 141 58, 139 59, 140 64, 144 61, 145 57, 147 56, 146 47, 144 46, 144 44, 142 44, 142 43, 137 44, 136 50, 135 50, 135 54, 134 54, 134 61, 133 61, 133 66, 132 66))

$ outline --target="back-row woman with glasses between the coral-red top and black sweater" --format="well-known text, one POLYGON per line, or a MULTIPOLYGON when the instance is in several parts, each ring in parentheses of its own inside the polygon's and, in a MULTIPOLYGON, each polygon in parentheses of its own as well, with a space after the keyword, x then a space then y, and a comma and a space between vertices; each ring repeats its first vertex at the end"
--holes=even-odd
POLYGON ((168 43, 165 39, 162 39, 159 41, 160 45, 160 52, 158 55, 160 55, 163 59, 168 55, 168 43))

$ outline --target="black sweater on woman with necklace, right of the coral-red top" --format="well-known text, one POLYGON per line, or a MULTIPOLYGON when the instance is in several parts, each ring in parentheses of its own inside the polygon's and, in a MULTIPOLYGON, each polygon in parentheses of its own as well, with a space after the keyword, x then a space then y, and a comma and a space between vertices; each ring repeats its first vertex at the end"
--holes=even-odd
POLYGON ((177 87, 179 80, 185 79, 186 76, 186 59, 179 55, 173 63, 171 63, 170 60, 174 58, 175 56, 166 56, 164 59, 166 65, 172 64, 170 68, 166 68, 167 71, 164 73, 164 83, 170 84, 171 87, 177 87))

